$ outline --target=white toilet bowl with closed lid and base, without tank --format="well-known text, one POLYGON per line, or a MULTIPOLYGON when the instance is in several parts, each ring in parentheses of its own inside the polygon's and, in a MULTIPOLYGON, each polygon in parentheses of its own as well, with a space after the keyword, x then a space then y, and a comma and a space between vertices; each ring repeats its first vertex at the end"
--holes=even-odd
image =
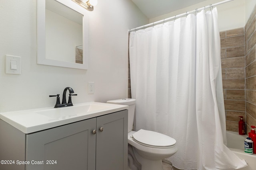
POLYGON ((178 150, 173 138, 144 129, 140 129, 138 132, 130 131, 128 143, 134 148, 135 157, 140 162, 142 170, 162 170, 162 159, 172 156, 178 150), (136 137, 141 137, 141 139, 136 139, 136 137), (167 141, 164 141, 166 139, 167 141), (155 143, 156 141, 159 143, 155 143))

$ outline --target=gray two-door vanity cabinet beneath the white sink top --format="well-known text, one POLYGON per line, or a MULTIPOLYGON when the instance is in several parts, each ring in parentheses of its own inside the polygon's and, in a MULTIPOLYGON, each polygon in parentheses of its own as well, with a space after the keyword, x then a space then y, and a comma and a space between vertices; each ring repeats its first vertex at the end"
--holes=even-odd
MULTIPOLYGON (((25 165, 25 169, 127 170, 127 114, 127 110, 123 110, 24 134, 25 160, 30 162, 25 165)), ((12 159, 15 160, 15 150, 8 152, 13 152, 12 159)), ((14 166, 4 167, 15 170, 14 166)), ((24 166, 18 166, 17 169, 24 170, 24 166)))

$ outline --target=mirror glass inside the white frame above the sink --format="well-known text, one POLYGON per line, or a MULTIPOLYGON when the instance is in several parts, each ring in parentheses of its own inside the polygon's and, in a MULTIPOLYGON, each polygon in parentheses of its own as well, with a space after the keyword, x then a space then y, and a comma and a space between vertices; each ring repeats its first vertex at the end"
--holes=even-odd
MULTIPOLYGON (((79 51, 78 47, 80 47, 80 50, 83 49, 82 19, 81 14, 56 0, 46 0, 47 59, 76 63, 76 51, 79 51)), ((81 55, 82 51, 79 52, 81 55)), ((81 59, 79 61, 82 62, 81 59)))

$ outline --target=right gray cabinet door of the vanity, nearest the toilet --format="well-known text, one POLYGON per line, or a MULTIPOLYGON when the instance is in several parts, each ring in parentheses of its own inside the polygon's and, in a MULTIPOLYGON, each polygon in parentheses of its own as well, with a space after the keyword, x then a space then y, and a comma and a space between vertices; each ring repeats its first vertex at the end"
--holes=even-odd
POLYGON ((127 133, 127 110, 97 117, 96 170, 127 170, 127 133))

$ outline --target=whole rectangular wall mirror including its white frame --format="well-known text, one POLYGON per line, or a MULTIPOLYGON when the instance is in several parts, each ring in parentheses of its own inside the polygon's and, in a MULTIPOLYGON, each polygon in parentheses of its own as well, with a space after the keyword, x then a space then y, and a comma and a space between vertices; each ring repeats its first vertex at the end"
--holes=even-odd
POLYGON ((38 64, 88 69, 85 13, 71 0, 37 0, 38 64))

